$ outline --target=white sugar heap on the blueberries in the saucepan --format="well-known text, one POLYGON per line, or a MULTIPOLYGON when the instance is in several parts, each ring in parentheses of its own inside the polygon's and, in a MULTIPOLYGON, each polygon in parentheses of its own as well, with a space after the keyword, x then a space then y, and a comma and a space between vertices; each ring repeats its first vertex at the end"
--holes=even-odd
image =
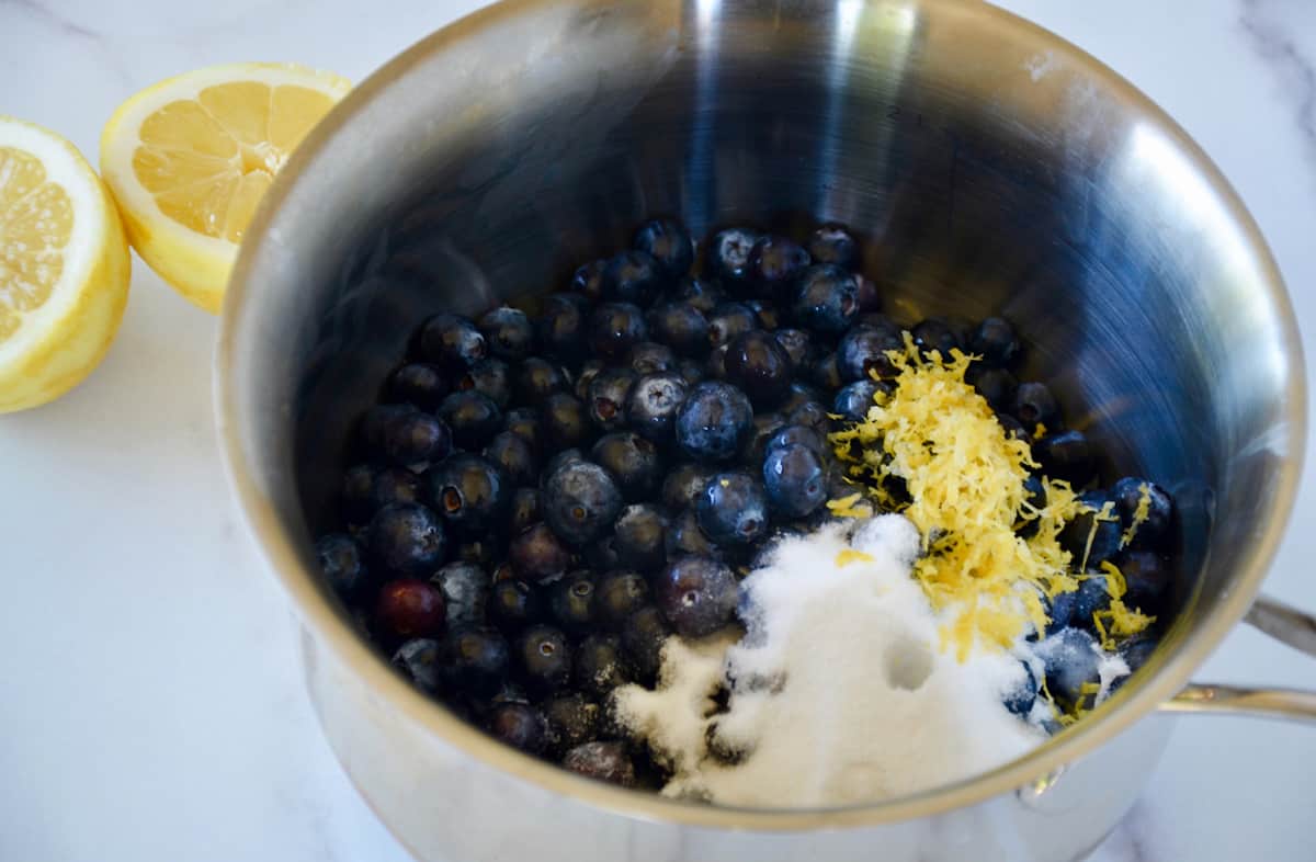
POLYGON ((899 515, 786 540, 742 584, 740 641, 670 638, 658 690, 628 686, 616 700, 672 770, 663 792, 750 807, 874 801, 1041 742, 1001 705, 1030 657, 975 650, 959 662, 941 649, 944 620, 911 576, 919 550, 899 515))

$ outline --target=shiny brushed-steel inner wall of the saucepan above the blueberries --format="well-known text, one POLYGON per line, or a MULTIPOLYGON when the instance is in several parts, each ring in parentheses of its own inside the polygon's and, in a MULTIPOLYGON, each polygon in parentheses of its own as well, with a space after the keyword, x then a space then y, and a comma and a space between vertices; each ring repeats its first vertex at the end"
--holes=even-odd
POLYGON ((1178 601, 1212 612, 1283 496, 1295 386, 1284 300, 1233 199, 1140 96, 1028 25, 772 9, 525 4, 330 118, 229 309, 232 374, 261 380, 237 404, 262 416, 238 420, 259 424, 243 445, 287 534, 309 549, 328 525, 351 421, 425 316, 561 290, 650 215, 695 236, 834 220, 898 320, 1019 326, 1025 375, 1107 474, 1174 492, 1178 601))

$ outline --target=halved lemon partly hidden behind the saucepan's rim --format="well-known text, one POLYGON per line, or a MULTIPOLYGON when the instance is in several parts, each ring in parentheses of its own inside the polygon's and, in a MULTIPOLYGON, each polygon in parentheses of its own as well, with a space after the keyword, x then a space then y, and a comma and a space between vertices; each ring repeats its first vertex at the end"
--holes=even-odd
POLYGON ((120 105, 100 136, 100 172, 142 259, 218 312, 261 196, 349 88, 291 63, 233 63, 170 78, 120 105))

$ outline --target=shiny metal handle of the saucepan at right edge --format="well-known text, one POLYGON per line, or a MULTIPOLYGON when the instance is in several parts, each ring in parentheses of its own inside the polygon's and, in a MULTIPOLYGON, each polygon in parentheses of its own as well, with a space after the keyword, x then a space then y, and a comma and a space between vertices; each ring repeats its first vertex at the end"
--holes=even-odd
MULTIPOLYGON (((1277 641, 1316 658, 1316 617, 1309 613, 1259 596, 1244 620, 1277 641)), ((1161 709, 1316 724, 1316 691, 1194 683, 1162 704, 1161 709)))

